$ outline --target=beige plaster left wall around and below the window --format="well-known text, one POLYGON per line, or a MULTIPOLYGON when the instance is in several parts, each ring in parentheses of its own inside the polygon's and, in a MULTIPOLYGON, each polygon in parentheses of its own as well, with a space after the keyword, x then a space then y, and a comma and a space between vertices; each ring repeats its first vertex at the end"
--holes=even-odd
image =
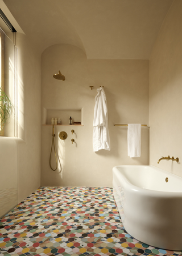
POLYGON ((19 134, 0 137, 0 217, 40 186, 40 54, 20 33, 16 46, 19 134))

